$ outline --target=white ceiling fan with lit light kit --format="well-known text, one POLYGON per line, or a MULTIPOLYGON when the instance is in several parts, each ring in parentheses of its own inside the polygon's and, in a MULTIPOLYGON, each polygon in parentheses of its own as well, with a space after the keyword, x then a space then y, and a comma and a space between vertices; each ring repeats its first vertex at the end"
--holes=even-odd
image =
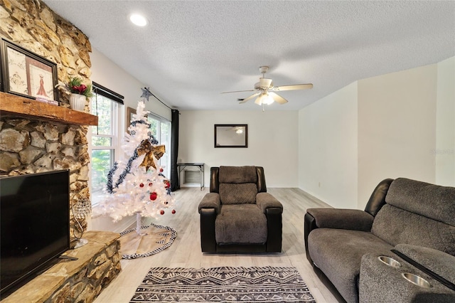
MULTIPOLYGON (((248 100, 257 97, 255 103, 257 105, 269 105, 273 102, 277 102, 279 104, 284 104, 288 102, 284 97, 277 95, 275 92, 282 92, 284 90, 307 90, 313 85, 311 83, 307 84, 294 84, 294 85, 282 85, 282 86, 273 86, 272 79, 265 78, 265 73, 269 70, 268 66, 261 66, 259 67, 259 72, 262 73, 262 78, 259 78, 259 82, 255 83, 254 90, 236 90, 233 92, 255 92, 254 94, 250 95, 250 97, 246 97, 243 100, 239 100, 239 104, 245 103, 248 100)), ((222 94, 227 94, 230 92, 222 92, 222 94)))

